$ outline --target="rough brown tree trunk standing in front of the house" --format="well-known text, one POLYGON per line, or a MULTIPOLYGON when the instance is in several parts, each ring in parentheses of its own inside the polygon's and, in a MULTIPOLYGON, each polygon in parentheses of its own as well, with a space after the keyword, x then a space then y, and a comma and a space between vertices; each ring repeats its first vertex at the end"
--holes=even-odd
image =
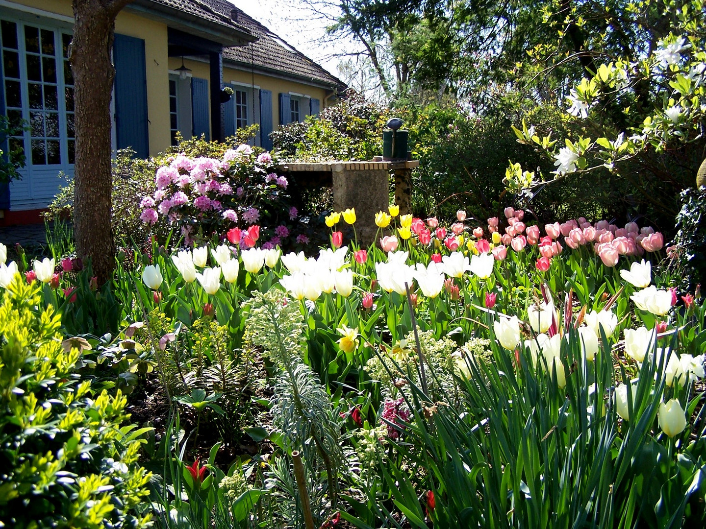
POLYGON ((112 276, 110 99, 115 18, 131 0, 73 0, 69 51, 76 102, 73 231, 76 254, 88 257, 100 284, 112 276))

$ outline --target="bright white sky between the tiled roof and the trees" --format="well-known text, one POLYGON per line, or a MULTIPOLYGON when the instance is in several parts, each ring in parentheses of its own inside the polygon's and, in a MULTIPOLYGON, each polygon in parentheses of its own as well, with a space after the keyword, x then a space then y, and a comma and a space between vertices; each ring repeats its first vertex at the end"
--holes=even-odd
POLYGON ((345 39, 332 42, 325 38, 325 20, 308 13, 301 0, 229 1, 333 75, 339 75, 339 59, 332 54, 354 48, 354 44, 345 39))

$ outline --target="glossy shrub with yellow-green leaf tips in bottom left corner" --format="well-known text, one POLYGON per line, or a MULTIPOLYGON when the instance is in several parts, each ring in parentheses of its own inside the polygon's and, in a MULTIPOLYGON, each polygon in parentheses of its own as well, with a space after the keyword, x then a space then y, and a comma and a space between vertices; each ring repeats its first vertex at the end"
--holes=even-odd
POLYGON ((0 526, 147 527, 135 512, 150 474, 145 430, 121 427, 126 398, 94 395, 78 376, 88 342, 62 341, 61 317, 16 279, 0 305, 0 526))

